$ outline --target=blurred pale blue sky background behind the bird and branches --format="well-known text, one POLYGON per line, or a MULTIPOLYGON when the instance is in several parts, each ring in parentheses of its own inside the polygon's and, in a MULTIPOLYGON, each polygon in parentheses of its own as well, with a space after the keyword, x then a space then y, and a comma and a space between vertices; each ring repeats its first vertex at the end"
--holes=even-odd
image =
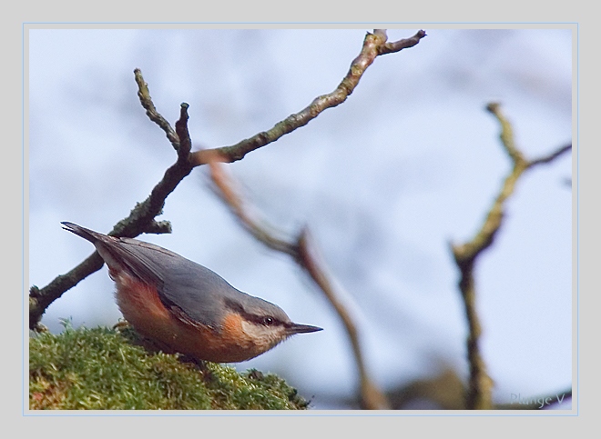
MULTIPOLYGON (((391 29, 389 40, 419 28, 391 29)), ((270 224, 290 235, 309 226, 386 392, 445 371, 468 376, 450 243, 473 237, 511 166, 485 105, 502 104, 528 158, 572 141, 571 30, 424 29, 419 45, 379 56, 342 105, 227 165, 270 224)), ((61 221, 107 233, 175 162, 139 104, 134 68, 172 125, 179 105, 190 105, 193 149, 233 145, 330 93, 368 30, 30 30, 29 286, 46 286, 93 251, 61 221)), ((280 374, 314 408, 356 407, 340 319, 290 257, 239 226, 205 167, 168 196, 158 220, 173 234, 139 239, 323 327, 235 366, 280 374)), ((476 266, 481 347, 499 404, 572 385, 571 178, 570 154, 523 175, 476 266)), ((42 323, 55 333, 62 318, 113 325, 113 291, 104 267, 42 323)))

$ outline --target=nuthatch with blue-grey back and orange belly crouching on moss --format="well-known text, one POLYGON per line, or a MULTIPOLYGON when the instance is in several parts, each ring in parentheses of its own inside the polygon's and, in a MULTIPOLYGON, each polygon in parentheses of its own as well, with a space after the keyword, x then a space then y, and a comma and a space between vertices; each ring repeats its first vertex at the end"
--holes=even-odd
POLYGON ((292 323, 280 306, 242 293, 158 245, 62 224, 96 246, 117 284, 121 313, 164 352, 234 363, 263 354, 290 335, 321 331, 292 323))

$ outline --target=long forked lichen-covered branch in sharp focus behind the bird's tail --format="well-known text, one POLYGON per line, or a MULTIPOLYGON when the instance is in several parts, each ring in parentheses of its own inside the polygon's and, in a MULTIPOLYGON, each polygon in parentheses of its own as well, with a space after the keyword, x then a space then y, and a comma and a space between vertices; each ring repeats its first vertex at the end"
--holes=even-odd
MULTIPOLYGON (((109 234, 133 238, 142 233, 170 233, 171 227, 168 222, 156 222, 154 218, 162 213, 168 195, 175 190, 179 182, 190 174, 195 166, 203 165, 208 163, 209 160, 216 159, 223 162, 240 160, 250 151, 268 145, 279 139, 282 135, 288 134, 302 125, 307 125, 311 119, 317 117, 325 108, 330 108, 344 102, 346 97, 351 95, 352 90, 358 84, 365 69, 372 64, 377 55, 392 53, 393 51, 398 52, 405 47, 411 47, 419 43, 419 40, 423 36, 425 36, 425 32, 419 31, 412 38, 387 44, 385 32, 376 31, 374 34, 368 34, 365 37, 361 54, 351 63, 349 73, 334 92, 317 97, 307 108, 300 113, 290 115, 268 132, 255 135, 237 145, 195 153, 190 153, 191 140, 188 133, 188 104, 183 103, 181 105, 180 117, 174 130, 168 121, 158 113, 150 97, 148 84, 144 80, 142 72, 139 69, 135 69, 134 77, 138 84, 140 104, 146 110, 148 118, 165 132, 169 142, 178 152, 178 160, 167 169, 163 179, 152 189, 148 198, 144 202, 138 203, 127 218, 119 221, 109 234)), ((58 275, 45 287, 38 288, 36 285, 32 285, 29 289, 29 328, 35 329, 50 304, 89 274, 99 270, 102 265, 102 259, 95 252, 67 274, 58 275)))

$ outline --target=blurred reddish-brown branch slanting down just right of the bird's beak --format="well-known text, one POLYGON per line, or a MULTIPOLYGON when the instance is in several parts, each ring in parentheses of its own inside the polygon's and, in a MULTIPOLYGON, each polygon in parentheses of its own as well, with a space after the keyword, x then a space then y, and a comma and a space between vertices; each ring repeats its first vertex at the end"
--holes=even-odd
POLYGON ((296 239, 276 236, 279 234, 269 224, 261 222, 258 215, 253 215, 251 208, 245 205, 235 187, 233 178, 227 175, 223 165, 218 161, 209 162, 211 178, 216 187, 216 193, 221 200, 229 206, 231 212, 236 215, 239 222, 261 243, 273 250, 289 254, 294 261, 301 266, 317 284, 321 292, 333 306, 341 318, 352 346, 355 364, 360 377, 360 394, 362 407, 365 409, 389 409, 386 396, 373 383, 367 373, 357 327, 352 321, 351 314, 341 301, 340 292, 336 291, 327 274, 325 263, 318 257, 317 245, 311 239, 309 229, 304 228, 296 239))

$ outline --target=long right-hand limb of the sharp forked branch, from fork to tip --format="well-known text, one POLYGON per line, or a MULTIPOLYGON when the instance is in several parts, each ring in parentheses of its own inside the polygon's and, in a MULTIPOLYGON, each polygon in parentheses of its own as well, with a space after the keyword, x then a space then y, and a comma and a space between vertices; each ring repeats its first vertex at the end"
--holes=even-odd
POLYGON ((376 30, 373 34, 368 33, 363 40, 361 53, 352 61, 349 72, 344 76, 341 83, 333 92, 328 95, 316 97, 313 102, 311 102, 311 105, 302 109, 299 113, 288 116, 268 131, 253 135, 236 145, 222 146, 220 148, 192 153, 190 160, 195 166, 209 163, 210 160, 215 160, 216 156, 219 157, 219 161, 222 162, 235 162, 241 160, 244 155, 247 155, 251 151, 275 142, 282 135, 287 135, 295 129, 309 124, 309 122, 320 115, 322 111, 343 103, 346 98, 351 95, 357 84, 359 84, 359 80, 363 73, 365 73, 367 67, 372 65, 373 60, 378 55, 392 54, 393 52, 399 52, 404 48, 413 47, 413 45, 417 45, 425 35, 425 32, 420 30, 411 38, 402 39, 394 43, 387 43, 385 31, 376 30))

